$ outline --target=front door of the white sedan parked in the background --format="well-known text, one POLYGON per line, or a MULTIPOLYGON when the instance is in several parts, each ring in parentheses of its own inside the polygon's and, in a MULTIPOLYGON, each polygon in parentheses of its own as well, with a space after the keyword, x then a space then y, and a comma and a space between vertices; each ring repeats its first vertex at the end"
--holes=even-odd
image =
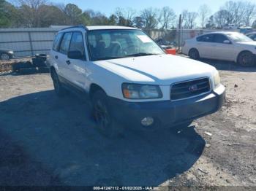
POLYGON ((234 44, 225 43, 230 41, 224 34, 214 34, 214 49, 213 55, 215 59, 233 61, 235 55, 234 44))

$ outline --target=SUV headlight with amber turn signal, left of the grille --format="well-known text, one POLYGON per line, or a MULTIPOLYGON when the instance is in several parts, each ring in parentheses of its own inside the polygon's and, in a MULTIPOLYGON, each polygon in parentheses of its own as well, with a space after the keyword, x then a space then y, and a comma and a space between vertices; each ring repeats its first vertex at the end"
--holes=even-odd
POLYGON ((127 99, 155 99, 162 98, 162 92, 158 85, 139 85, 128 84, 122 85, 124 98, 127 99))

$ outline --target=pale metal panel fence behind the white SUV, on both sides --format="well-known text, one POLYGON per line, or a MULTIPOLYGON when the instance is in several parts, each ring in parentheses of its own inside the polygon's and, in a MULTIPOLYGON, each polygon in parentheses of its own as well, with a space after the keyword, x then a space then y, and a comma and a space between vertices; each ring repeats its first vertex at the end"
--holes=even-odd
MULTIPOLYGON (((57 31, 64 26, 54 28, 4 28, 0 29, 0 49, 14 50, 16 57, 32 56, 37 53, 48 54, 54 36, 57 31)), ((214 29, 205 30, 159 30, 145 29, 146 33, 151 36, 160 45, 170 45, 180 49, 185 40, 191 39, 200 34, 206 34, 214 29)), ((239 30, 231 30, 239 31, 239 30)))

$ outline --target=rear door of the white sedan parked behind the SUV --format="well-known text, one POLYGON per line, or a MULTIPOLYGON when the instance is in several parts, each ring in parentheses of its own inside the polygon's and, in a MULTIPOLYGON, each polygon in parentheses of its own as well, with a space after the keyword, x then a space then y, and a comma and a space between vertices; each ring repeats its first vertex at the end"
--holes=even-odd
POLYGON ((201 58, 214 58, 214 34, 205 34, 197 37, 197 50, 201 58))

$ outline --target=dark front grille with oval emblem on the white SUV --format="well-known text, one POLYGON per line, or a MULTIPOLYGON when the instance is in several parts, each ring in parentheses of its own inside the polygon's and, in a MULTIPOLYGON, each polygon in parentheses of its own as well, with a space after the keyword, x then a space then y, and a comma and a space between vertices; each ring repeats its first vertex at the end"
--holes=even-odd
POLYGON ((208 78, 195 79, 186 82, 178 82, 170 87, 170 99, 179 100, 194 97, 211 90, 208 78))

